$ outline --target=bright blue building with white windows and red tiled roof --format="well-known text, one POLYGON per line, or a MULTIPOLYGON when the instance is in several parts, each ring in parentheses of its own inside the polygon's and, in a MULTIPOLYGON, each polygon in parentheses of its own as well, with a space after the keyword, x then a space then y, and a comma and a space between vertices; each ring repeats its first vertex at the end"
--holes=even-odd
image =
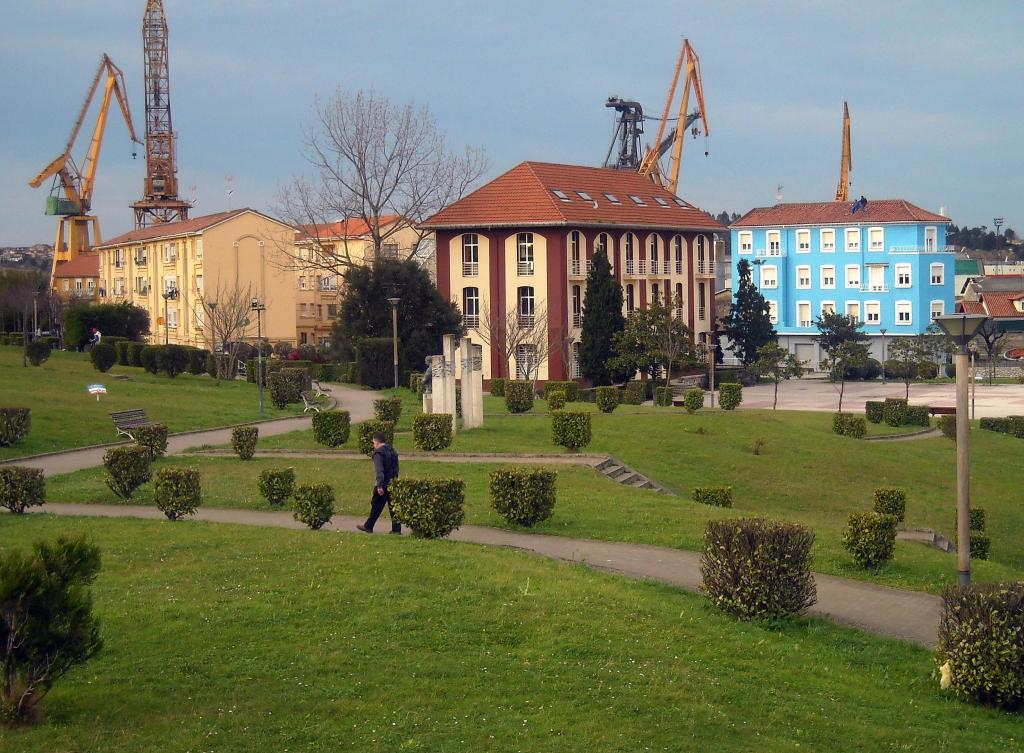
POLYGON ((856 213, 846 202, 752 209, 730 225, 733 290, 740 262, 750 262, 779 344, 812 368, 820 363, 814 322, 824 311, 862 322, 881 360, 887 338, 920 335, 953 311, 949 222, 901 199, 856 213))

